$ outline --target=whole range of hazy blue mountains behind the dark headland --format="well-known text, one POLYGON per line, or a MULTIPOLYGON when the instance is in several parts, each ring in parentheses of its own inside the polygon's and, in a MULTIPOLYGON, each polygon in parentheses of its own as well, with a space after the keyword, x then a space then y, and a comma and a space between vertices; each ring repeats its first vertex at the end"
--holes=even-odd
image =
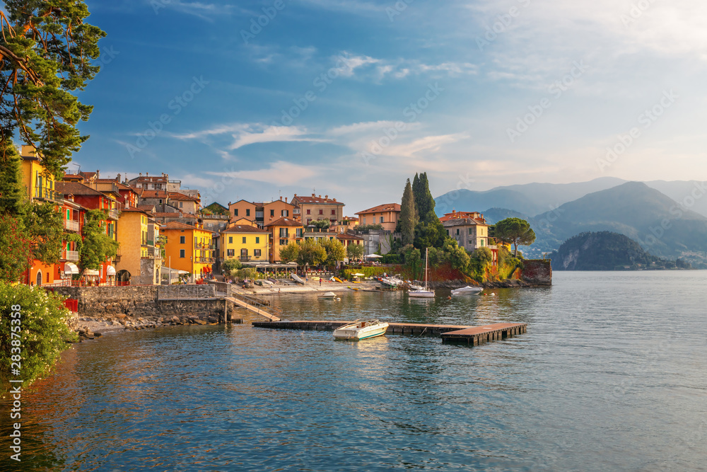
POLYGON ((489 224, 507 217, 527 219, 537 235, 532 246, 522 248, 529 257, 554 251, 580 233, 613 231, 637 241, 652 255, 684 258, 694 267, 707 268, 707 187, 702 185, 698 181, 642 183, 615 178, 511 185, 441 195, 436 198, 436 211, 451 211, 450 200, 455 196, 451 203, 457 210, 487 208, 483 213, 489 224))

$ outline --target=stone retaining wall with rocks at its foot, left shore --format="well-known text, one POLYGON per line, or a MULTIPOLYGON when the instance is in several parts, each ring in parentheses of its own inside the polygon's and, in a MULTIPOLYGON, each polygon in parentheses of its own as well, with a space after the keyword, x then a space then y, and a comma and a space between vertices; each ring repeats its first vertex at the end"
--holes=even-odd
POLYGON ((213 285, 56 287, 54 293, 78 300, 78 315, 69 326, 80 339, 106 330, 215 324, 233 308, 216 297, 213 285))

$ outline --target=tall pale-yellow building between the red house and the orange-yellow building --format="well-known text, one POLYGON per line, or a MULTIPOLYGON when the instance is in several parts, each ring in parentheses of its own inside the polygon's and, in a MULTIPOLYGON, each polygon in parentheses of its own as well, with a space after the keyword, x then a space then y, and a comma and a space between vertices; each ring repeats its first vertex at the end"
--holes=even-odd
POLYGON ((155 224, 148 214, 137 208, 124 208, 117 221, 119 260, 115 265, 117 280, 134 285, 153 285, 160 282, 160 248, 156 244, 155 224), (152 231, 151 231, 152 230, 152 231))

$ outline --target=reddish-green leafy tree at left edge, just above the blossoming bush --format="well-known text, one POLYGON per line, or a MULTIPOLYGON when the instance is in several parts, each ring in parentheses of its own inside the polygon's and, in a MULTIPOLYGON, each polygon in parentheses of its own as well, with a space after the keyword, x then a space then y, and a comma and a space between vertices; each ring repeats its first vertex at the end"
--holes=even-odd
POLYGON ((30 241, 22 229, 22 221, 11 214, 0 213, 0 281, 16 282, 32 263, 30 241))

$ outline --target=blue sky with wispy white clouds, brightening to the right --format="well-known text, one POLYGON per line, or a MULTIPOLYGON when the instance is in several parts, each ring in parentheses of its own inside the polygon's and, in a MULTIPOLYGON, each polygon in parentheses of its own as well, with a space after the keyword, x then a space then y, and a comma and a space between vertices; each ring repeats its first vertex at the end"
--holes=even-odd
POLYGON ((699 0, 88 0, 107 33, 69 172, 345 214, 532 182, 706 180, 699 0))

